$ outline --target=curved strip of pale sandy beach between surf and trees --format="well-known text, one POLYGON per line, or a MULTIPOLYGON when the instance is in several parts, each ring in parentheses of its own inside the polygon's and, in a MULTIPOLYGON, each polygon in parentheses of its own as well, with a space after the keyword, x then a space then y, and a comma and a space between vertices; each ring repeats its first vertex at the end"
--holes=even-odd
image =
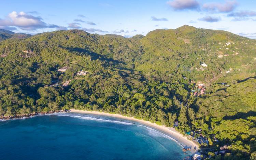
POLYGON ((143 124, 145 126, 148 126, 148 127, 153 128, 153 129, 156 129, 158 131, 161 131, 162 133, 164 133, 166 135, 169 135, 170 137, 172 137, 173 139, 178 141, 180 144, 182 144, 184 147, 191 148, 190 151, 193 152, 193 153, 198 150, 198 145, 197 144, 195 144, 193 141, 188 140, 185 136, 183 136, 182 134, 177 132, 175 130, 175 128, 159 126, 156 123, 152 123, 150 121, 136 119, 136 118, 133 118, 133 117, 126 117, 126 116, 119 115, 119 114, 110 114, 110 113, 97 112, 97 111, 82 111, 82 110, 75 110, 75 109, 71 109, 71 110, 69 110, 69 112, 86 113, 86 114, 97 114, 97 115, 111 116, 111 117, 116 117, 116 118, 136 121, 136 122, 139 122, 139 123, 141 123, 141 124, 143 124), (195 151, 194 151, 194 147, 196 147, 195 151))

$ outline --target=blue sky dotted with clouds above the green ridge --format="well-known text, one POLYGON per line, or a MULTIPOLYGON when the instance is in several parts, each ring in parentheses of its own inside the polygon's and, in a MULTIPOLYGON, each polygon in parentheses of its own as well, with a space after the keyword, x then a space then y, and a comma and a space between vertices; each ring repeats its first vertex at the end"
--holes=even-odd
POLYGON ((0 29, 146 35, 183 25, 256 38, 255 0, 1 0, 0 29))

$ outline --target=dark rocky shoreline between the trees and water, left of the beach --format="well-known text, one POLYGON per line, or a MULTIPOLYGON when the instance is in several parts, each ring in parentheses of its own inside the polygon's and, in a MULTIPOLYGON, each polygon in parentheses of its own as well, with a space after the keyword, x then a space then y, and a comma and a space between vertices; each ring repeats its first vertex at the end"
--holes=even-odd
POLYGON ((30 113, 30 114, 22 114, 22 115, 15 115, 15 116, 0 116, 0 120, 22 119, 22 118, 34 117, 37 115, 46 115, 46 114, 63 113, 63 112, 69 112, 69 110, 34 112, 34 113, 30 113))

